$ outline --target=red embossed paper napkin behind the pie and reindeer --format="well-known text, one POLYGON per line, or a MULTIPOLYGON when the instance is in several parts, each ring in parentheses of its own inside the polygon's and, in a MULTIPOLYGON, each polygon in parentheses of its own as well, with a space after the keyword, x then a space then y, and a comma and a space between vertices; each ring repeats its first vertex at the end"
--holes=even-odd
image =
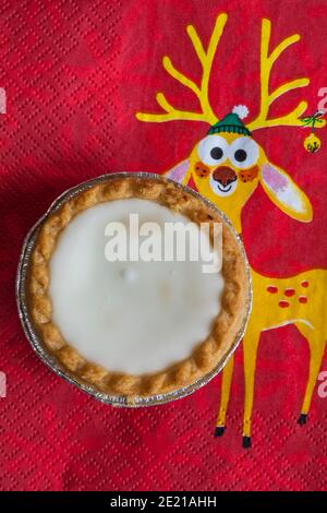
MULTIPOLYGON (((201 68, 185 34, 194 24, 205 43, 215 19, 229 20, 210 81, 218 117, 233 105, 258 108, 261 20, 272 22, 271 45, 302 39, 274 67, 271 85, 306 74, 311 85, 274 106, 299 99, 317 108, 327 86, 325 1, 0 1, 0 399, 2 490, 308 490, 326 489, 326 405, 315 391, 308 423, 300 428, 308 351, 292 326, 262 336, 256 372, 253 448, 241 446, 242 349, 237 351, 227 432, 214 439, 220 378, 192 396, 148 409, 114 409, 51 373, 33 354, 16 315, 14 278, 23 238, 64 189, 112 170, 161 172, 185 158, 207 126, 142 123, 135 112, 159 111, 164 91, 181 108, 192 94, 160 64, 169 55, 195 81, 201 68), (303 71, 305 70, 305 71, 303 71)), ((252 264, 281 276, 327 267, 325 199, 327 130, 311 156, 302 129, 256 133, 271 162, 305 190, 310 225, 281 214, 258 188, 243 211, 252 264)), ((322 312, 325 314, 325 312, 322 312)), ((325 359, 323 369, 327 370, 325 359)))

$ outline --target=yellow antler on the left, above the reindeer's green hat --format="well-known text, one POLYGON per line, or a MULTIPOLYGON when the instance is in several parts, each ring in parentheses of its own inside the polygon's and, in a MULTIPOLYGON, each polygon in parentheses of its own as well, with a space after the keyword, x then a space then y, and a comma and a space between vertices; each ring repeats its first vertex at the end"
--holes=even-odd
POLYGON ((164 93, 158 93, 156 99, 160 107, 165 110, 162 114, 146 114, 137 112, 136 118, 140 121, 149 121, 149 122, 162 122, 162 121, 172 121, 172 120, 189 120, 189 121, 205 121, 209 124, 214 124, 218 121, 215 112, 211 109, 208 99, 208 86, 210 79, 210 71, 217 46, 219 44, 220 37, 223 32, 223 27, 227 22, 227 14, 222 13, 216 20, 216 24, 209 40, 207 50, 205 51, 204 46, 199 39, 199 36, 193 25, 189 25, 186 28, 187 35, 192 41, 194 50, 198 57, 198 60, 202 64, 203 74, 201 85, 196 85, 191 79, 185 76, 183 73, 178 71, 172 64, 169 57, 165 56, 162 59, 162 65, 167 73, 170 74, 173 79, 180 82, 185 87, 189 87, 197 96, 202 112, 192 112, 187 110, 178 110, 167 100, 164 93))

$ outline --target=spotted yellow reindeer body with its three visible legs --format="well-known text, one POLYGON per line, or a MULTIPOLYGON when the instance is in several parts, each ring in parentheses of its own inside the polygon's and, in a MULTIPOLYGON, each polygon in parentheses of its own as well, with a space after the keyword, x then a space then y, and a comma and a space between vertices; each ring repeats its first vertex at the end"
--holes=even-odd
MULTIPOLYGON (((311 270, 287 278, 271 278, 252 269, 253 308, 243 337, 245 405, 243 444, 250 445, 256 354, 261 333, 287 324, 294 324, 310 347, 306 390, 299 423, 305 423, 312 394, 316 384, 327 339, 327 323, 322 315, 327 301, 327 271, 311 270)), ((229 401, 233 357, 223 369, 221 403, 216 434, 225 429, 229 401)))

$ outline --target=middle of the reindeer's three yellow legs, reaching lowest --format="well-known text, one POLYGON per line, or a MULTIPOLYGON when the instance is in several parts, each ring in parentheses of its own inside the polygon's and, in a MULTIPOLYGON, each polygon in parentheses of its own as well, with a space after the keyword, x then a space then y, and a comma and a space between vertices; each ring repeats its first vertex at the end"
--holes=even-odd
POLYGON ((243 418, 243 448, 251 448, 251 417, 254 396, 254 377, 256 367, 256 354, 261 331, 255 326, 247 325, 243 337, 244 379, 245 379, 245 402, 243 418))

